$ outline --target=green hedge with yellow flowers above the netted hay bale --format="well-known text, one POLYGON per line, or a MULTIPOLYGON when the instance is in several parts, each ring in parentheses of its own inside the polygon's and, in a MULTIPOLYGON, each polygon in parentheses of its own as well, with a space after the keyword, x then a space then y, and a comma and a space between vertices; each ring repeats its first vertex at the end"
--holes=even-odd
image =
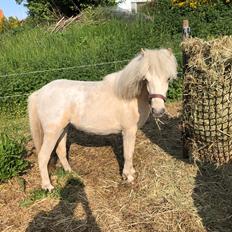
MULTIPOLYGON (((217 37, 232 34, 232 4, 216 1, 214 4, 201 5, 197 9, 173 6, 170 0, 151 3, 144 12, 153 17, 156 34, 166 35, 178 40, 182 33, 182 21, 188 19, 194 37, 217 37)), ((170 38, 170 39, 171 39, 170 38)))

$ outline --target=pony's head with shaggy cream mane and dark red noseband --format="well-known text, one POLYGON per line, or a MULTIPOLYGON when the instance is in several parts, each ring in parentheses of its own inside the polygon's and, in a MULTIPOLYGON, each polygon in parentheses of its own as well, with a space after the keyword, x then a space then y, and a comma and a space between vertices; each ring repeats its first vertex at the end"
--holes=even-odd
POLYGON ((176 76, 177 62, 171 49, 142 49, 121 71, 117 93, 124 99, 132 99, 141 94, 146 84, 152 114, 159 117, 165 112, 169 81, 176 76))

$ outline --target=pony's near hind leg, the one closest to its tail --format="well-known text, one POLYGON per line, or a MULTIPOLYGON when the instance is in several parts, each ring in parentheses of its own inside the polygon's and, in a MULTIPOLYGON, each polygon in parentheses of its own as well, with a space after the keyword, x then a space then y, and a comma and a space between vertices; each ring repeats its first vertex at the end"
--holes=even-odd
POLYGON ((39 170, 42 179, 42 188, 51 191, 54 187, 51 185, 48 174, 48 162, 51 157, 51 153, 59 139, 62 131, 44 133, 43 144, 38 154, 39 170))

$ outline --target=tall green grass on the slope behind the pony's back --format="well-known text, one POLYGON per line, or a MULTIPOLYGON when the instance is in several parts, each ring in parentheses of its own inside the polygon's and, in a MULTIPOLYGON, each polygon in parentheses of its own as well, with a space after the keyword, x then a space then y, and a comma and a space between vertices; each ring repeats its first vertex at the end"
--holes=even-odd
MULTIPOLYGON (((181 61, 179 39, 159 34, 153 23, 141 19, 106 19, 77 23, 59 33, 47 28, 27 29, 0 38, 0 75, 132 59, 141 48, 172 47, 181 61)), ((0 77, 2 97, 33 92, 54 79, 100 80, 125 63, 108 64, 29 75, 0 77)), ((0 105, 25 106, 26 96, 0 99, 0 105)), ((25 108, 25 107, 24 107, 25 108)))

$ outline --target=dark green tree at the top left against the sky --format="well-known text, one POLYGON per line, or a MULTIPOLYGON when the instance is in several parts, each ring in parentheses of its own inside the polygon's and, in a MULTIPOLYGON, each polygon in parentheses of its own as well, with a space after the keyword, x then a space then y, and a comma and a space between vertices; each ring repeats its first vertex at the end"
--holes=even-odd
POLYGON ((29 16, 38 19, 59 18, 79 14, 88 6, 113 5, 115 0, 15 0, 24 4, 29 11, 29 16))

